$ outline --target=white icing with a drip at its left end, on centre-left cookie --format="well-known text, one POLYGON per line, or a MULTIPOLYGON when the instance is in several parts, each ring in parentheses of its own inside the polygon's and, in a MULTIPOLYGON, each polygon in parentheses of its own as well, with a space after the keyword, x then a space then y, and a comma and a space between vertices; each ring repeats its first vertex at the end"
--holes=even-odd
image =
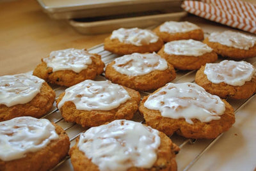
POLYGON ((78 110, 111 110, 130 98, 124 87, 118 84, 108 80, 85 80, 65 90, 58 108, 60 109, 65 101, 72 101, 78 110))

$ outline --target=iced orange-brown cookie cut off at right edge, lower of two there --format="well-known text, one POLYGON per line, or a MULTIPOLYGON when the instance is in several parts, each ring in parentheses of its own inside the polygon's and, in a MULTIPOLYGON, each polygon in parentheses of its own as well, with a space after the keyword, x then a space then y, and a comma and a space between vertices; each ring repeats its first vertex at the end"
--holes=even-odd
POLYGON ((221 98, 246 99, 256 92, 255 68, 245 61, 206 64, 196 72, 195 82, 221 98))

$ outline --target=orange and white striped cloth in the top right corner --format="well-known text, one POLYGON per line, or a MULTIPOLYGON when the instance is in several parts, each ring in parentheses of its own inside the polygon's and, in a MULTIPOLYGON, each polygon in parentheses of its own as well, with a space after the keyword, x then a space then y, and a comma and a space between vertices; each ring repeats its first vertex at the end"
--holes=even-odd
POLYGON ((256 34, 256 6, 238 0, 183 1, 189 13, 256 34))

